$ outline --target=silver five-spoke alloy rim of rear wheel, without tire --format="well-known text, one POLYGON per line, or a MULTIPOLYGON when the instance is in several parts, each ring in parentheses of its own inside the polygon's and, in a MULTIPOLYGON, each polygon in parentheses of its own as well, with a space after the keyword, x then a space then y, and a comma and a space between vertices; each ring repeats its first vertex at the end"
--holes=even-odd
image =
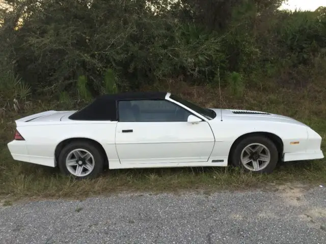
POLYGON ((90 174, 95 166, 93 155, 85 149, 78 148, 70 151, 66 158, 66 167, 75 176, 90 174))

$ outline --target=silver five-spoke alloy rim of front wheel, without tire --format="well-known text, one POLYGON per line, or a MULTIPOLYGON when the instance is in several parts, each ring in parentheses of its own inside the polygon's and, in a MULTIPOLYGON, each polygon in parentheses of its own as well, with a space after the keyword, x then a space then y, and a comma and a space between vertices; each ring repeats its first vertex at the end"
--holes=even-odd
POLYGON ((243 148, 240 160, 246 169, 260 171, 269 164, 270 151, 263 144, 252 143, 243 148))

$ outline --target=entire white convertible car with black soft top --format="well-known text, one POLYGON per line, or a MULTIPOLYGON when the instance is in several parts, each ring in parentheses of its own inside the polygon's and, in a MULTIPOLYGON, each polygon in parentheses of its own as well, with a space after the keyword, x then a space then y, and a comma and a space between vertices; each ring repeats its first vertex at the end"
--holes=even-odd
POLYGON ((170 93, 104 95, 78 111, 16 120, 15 160, 77 178, 110 169, 234 166, 270 173, 280 161, 322 159, 321 137, 292 118, 208 109, 170 93))

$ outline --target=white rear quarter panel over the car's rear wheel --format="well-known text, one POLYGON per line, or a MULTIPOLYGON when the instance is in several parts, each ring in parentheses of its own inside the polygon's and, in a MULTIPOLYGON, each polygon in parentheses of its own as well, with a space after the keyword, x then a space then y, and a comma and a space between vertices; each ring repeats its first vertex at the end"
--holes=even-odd
POLYGON ((26 122, 17 126, 25 139, 31 163, 56 166, 57 145, 70 138, 88 138, 99 142, 110 160, 119 160, 115 149, 116 121, 26 122))

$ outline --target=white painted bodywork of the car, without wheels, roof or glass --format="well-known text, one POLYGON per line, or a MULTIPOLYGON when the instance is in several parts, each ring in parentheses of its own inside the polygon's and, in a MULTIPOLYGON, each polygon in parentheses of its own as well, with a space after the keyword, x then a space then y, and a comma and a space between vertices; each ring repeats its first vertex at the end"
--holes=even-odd
POLYGON ((55 150, 60 142, 87 138, 104 148, 110 169, 227 166, 230 149, 236 139, 248 133, 263 132, 282 140, 283 161, 324 157, 320 149, 321 137, 292 118, 213 109, 216 116, 210 120, 172 100, 169 93, 166 100, 191 111, 202 121, 70 120, 69 115, 75 111, 51 110, 17 119, 17 131, 25 140, 13 140, 8 143, 8 148, 15 160, 56 167, 55 150), (122 130, 132 132, 122 133, 122 130), (290 144, 293 141, 300 143, 290 144))

